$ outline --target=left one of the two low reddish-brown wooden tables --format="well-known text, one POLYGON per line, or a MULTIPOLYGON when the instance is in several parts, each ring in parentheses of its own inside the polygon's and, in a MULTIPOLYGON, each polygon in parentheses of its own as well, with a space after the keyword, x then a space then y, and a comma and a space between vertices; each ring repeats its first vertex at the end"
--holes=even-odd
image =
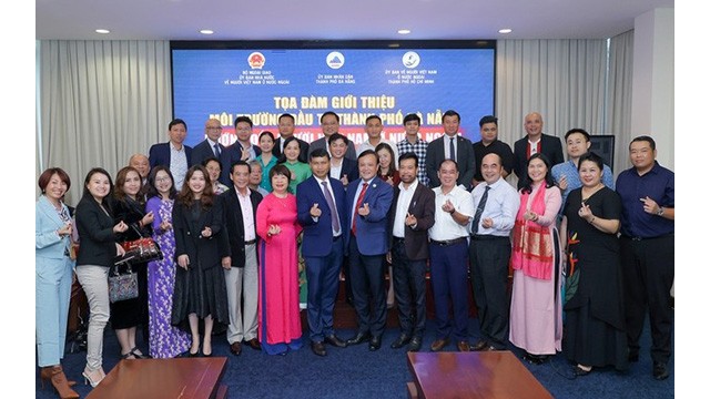
POLYGON ((87 398, 225 398, 225 357, 121 360, 87 398))

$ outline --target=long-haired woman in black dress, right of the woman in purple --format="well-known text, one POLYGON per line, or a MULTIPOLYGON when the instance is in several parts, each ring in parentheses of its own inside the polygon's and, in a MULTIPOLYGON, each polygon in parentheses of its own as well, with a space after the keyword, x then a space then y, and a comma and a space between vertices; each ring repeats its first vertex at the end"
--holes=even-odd
POLYGON ((210 175, 202 165, 192 166, 175 198, 173 229, 175 274, 172 324, 190 325, 190 356, 200 352, 200 320, 204 321, 202 355, 212 355, 215 323, 229 325, 223 264, 229 265, 230 246, 224 229, 222 201, 213 193, 210 175))

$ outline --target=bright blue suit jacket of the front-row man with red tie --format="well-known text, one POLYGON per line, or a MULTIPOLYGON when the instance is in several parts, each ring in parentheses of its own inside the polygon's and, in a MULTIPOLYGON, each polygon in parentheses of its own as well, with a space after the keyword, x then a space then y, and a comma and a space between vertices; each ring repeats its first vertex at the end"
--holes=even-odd
MULTIPOLYGON (((357 186, 362 178, 348 184, 349 190, 345 196, 345 209, 347 212, 346 228, 353 225, 353 212, 357 186)), ((389 250, 389 238, 387 237, 388 216, 392 206, 394 190, 382 178, 375 176, 365 192, 363 204, 368 204, 369 215, 361 216, 355 214, 355 227, 357 228, 357 250, 363 255, 384 255, 389 250)), ((345 235, 345 247, 349 245, 351 234, 345 235)))

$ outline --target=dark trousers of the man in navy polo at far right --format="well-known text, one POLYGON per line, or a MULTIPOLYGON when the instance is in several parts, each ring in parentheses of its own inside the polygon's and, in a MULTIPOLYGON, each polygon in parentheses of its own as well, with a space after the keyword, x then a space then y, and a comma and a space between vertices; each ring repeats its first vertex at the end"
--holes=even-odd
POLYGON ((674 278, 673 236, 633 241, 621 237, 621 270, 629 351, 639 351, 639 338, 648 310, 651 326, 651 358, 668 362, 673 310, 670 288, 674 278))

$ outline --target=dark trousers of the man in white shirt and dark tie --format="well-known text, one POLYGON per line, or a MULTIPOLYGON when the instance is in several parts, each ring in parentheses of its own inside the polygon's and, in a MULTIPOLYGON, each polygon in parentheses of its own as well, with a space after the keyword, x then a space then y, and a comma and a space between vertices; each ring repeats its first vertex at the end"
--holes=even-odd
POLYGON ((468 248, 470 284, 478 308, 481 339, 496 349, 505 349, 510 319, 508 294, 510 238, 478 236, 471 238, 468 248))

